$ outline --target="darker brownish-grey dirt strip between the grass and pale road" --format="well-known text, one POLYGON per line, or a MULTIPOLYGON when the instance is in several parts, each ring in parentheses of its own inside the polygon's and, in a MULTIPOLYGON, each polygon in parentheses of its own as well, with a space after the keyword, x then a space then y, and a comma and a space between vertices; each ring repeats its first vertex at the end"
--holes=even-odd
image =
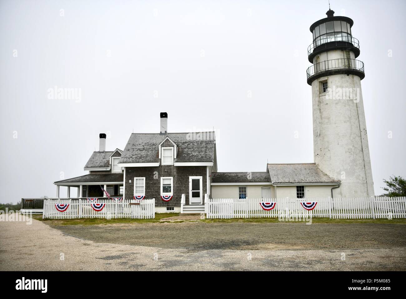
POLYGON ((304 223, 148 223, 53 226, 64 234, 165 249, 360 249, 406 246, 406 225, 304 223))

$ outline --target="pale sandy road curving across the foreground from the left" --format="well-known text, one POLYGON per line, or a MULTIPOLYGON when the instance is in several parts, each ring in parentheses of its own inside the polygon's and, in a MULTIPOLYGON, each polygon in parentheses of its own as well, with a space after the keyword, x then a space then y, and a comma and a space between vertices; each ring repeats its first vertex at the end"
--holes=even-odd
MULTIPOLYGON (((179 229, 182 224, 164 225, 179 229)), ((86 229, 97 234, 95 227, 86 229)), ((37 220, 33 220, 32 225, 0 222, 0 242, 0 270, 406 269, 404 246, 346 250, 162 249, 83 240, 37 220), (341 259, 343 253, 345 260, 341 259), (64 259, 60 258, 61 254, 64 259)))

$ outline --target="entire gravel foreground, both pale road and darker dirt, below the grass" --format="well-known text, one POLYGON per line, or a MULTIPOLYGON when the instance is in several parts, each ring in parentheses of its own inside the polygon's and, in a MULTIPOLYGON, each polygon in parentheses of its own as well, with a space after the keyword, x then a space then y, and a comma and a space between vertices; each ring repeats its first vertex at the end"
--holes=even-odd
POLYGON ((0 270, 402 270, 405 225, 0 222, 0 270), (58 229, 56 229, 58 228, 58 229))

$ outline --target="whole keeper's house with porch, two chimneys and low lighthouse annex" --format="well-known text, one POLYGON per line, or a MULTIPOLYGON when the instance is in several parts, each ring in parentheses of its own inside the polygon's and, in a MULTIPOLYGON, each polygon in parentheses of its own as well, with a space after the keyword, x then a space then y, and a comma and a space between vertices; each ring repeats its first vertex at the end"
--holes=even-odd
MULTIPOLYGON (((84 170, 88 175, 56 181, 78 187, 77 197, 102 197, 101 186, 111 196, 127 200, 155 198, 155 211, 204 212, 210 198, 317 198, 333 196, 341 184, 315 163, 268 164, 264 172, 217 172, 214 132, 168 133, 168 115, 160 113, 160 133, 132 133, 124 150, 105 151, 100 134, 99 151, 84 170)), ((68 188, 67 197, 70 196, 68 188)))

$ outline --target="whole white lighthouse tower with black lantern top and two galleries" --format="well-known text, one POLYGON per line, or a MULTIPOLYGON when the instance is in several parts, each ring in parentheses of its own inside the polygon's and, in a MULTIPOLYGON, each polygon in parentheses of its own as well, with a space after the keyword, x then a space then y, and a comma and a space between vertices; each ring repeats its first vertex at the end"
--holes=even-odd
POLYGON ((327 17, 310 26, 307 83, 313 98, 314 161, 326 174, 341 180, 334 197, 374 196, 371 159, 361 80, 364 63, 356 60, 359 42, 349 17, 327 17))

